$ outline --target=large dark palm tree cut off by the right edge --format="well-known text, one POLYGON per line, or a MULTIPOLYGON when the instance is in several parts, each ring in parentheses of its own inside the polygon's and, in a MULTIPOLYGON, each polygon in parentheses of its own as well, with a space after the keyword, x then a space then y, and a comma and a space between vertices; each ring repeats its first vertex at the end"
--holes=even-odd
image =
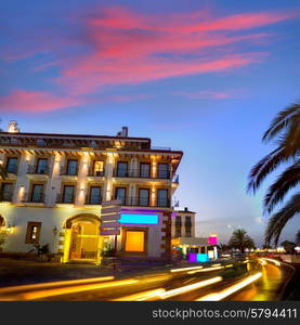
MULTIPOLYGON (((258 191, 263 180, 282 164, 286 170, 268 188, 263 200, 263 212, 271 213, 290 190, 300 183, 300 102, 279 112, 264 132, 262 141, 274 141, 276 148, 252 167, 249 174, 248 192, 258 191)), ((300 193, 294 194, 285 206, 274 213, 265 231, 265 243, 277 245, 286 223, 300 212, 300 193)))

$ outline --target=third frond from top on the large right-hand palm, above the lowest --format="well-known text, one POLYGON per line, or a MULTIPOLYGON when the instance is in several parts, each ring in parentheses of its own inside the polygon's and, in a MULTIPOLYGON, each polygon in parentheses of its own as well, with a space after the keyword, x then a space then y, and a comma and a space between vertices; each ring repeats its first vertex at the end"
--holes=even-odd
POLYGON ((273 183, 264 196, 264 212, 271 212, 285 195, 300 183, 300 161, 287 168, 273 183))

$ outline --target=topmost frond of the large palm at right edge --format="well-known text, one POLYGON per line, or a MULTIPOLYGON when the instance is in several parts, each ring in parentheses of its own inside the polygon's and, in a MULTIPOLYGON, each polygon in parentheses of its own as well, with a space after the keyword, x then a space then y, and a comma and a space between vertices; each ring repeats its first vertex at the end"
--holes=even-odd
POLYGON ((270 142, 277 134, 279 134, 292 120, 298 119, 300 116, 300 104, 296 103, 288 106, 286 109, 278 113, 273 119, 270 128, 264 132, 262 136, 263 142, 270 142))

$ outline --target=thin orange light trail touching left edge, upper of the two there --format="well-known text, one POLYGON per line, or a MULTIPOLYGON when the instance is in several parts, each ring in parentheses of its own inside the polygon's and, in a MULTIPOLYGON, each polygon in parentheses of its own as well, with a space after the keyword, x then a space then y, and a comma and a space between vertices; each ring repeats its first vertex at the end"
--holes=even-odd
POLYGON ((25 291, 25 290, 36 290, 36 289, 44 289, 44 288, 51 288, 51 287, 60 287, 60 286, 97 283, 97 282, 112 281, 112 280, 115 280, 115 277, 114 276, 90 277, 90 278, 81 278, 81 280, 55 281, 55 282, 48 282, 48 283, 41 283, 41 284, 13 286, 13 287, 1 288, 0 295, 1 294, 14 294, 17 291, 25 291))

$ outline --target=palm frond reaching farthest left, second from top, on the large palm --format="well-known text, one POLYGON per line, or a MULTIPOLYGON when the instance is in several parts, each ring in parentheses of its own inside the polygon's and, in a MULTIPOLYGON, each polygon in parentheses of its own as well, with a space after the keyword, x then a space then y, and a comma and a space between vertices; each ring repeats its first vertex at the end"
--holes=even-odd
POLYGON ((275 170, 282 162, 288 161, 289 158, 290 157, 285 154, 285 150, 281 146, 263 157, 250 170, 247 192, 256 193, 268 174, 275 170))

